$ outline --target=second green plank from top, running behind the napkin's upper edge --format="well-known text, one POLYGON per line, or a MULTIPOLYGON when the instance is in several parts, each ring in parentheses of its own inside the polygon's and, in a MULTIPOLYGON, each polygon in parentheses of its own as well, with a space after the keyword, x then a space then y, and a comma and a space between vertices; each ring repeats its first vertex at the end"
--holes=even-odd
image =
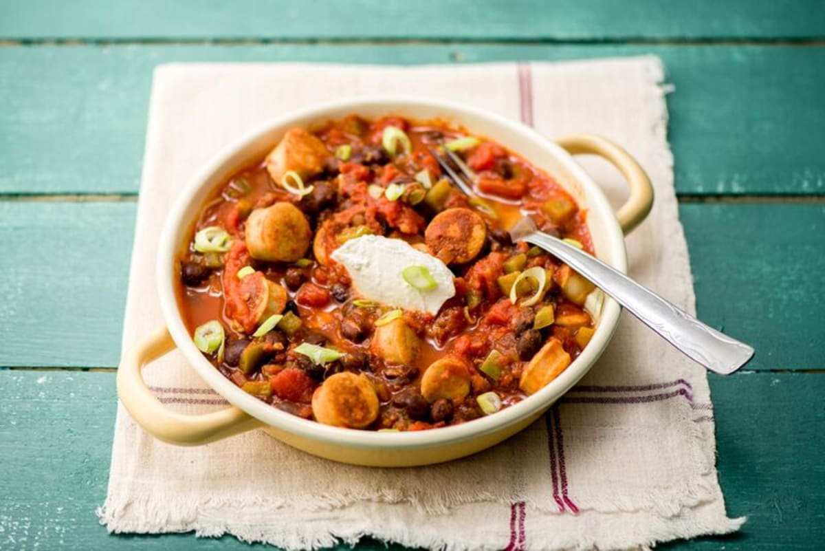
MULTIPOLYGON (((2 19, 2 18, 0 18, 2 19)), ((658 54, 684 194, 825 193, 825 47, 254 45, 0 48, 0 193, 134 193, 152 69, 171 61, 425 64, 658 54), (799 139, 804 136, 804 139, 799 139), (60 162, 49 162, 58 155, 60 162)))

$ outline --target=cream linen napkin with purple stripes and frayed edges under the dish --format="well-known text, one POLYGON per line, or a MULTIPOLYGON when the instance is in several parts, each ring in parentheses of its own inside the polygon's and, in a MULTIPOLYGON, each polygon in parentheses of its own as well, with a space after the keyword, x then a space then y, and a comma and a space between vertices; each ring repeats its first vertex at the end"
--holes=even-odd
MULTIPOLYGON (((639 159, 656 187, 629 238, 629 272, 694 311, 667 145, 659 59, 416 68, 168 64, 154 73, 123 346, 163 324, 154 285, 158 234, 194 172, 229 141, 300 106, 365 93, 448 98, 548 136, 594 132, 639 159)), ((615 204, 625 184, 582 165, 615 204)), ((226 403, 177 352, 144 371, 163 403, 226 403)), ((598 364, 540 421, 468 459, 370 469, 318 459, 262 431, 196 448, 154 440, 122 407, 106 503, 111 532, 232 534, 287 549, 365 535, 431 549, 634 549, 736 530, 714 467, 705 371, 624 315, 598 364)))

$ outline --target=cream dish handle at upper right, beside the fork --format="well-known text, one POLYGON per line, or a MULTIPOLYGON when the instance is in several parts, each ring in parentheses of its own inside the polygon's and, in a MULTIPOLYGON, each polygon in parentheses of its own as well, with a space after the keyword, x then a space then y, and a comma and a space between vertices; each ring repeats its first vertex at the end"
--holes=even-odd
POLYGON ((653 186, 639 162, 624 148, 596 134, 567 134, 554 141, 571 155, 598 155, 619 169, 630 187, 630 196, 616 211, 616 219, 625 235, 647 218, 653 208, 653 186))

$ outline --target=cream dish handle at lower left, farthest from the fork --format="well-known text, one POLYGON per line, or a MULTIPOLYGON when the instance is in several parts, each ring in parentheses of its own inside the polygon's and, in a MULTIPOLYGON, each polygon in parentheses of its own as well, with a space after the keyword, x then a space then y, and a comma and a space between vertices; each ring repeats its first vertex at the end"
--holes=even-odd
POLYGON ((134 421, 155 438, 169 444, 201 445, 241 432, 262 422, 238 407, 219 412, 183 415, 168 409, 146 386, 141 370, 175 348, 166 327, 126 351, 117 369, 117 394, 134 421))

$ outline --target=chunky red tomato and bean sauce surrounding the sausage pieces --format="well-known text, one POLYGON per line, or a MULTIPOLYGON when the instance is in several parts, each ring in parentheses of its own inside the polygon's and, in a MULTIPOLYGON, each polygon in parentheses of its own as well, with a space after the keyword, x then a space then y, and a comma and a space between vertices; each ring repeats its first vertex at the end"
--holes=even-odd
POLYGON ((487 232, 485 243, 471 261, 450 265, 455 274, 456 294, 436 316, 403 313, 404 322, 421 341, 414 359, 398 365, 376 355, 370 349, 375 321, 393 308, 357 306, 353 301, 359 297, 351 288, 347 271, 323 257, 340 246, 347 235, 357 232, 402 238, 417 247, 427 247, 425 229, 438 212, 451 208, 474 210, 465 195, 439 183, 444 175, 427 149, 466 132, 438 120, 417 122, 386 117, 368 121, 352 115, 329 122, 313 134, 328 153, 323 158, 323 171, 305 178, 305 185, 314 186, 312 194, 302 199, 285 191, 272 181, 266 161, 262 160, 220 186, 214 198, 204 205, 193 228, 192 235, 208 226, 224 228, 233 239, 231 250, 202 254, 190 240, 181 251, 181 312, 190 332, 210 320, 223 325, 227 335, 224 361, 219 361, 214 353, 207 356, 224 375, 276 407, 311 417, 310 397, 325 377, 342 370, 364 373, 375 385, 381 404, 380 414, 370 428, 420 430, 480 417, 483 412, 475 398, 481 393, 494 391, 505 406, 523 398, 525 393, 519 380, 535 354, 537 345, 532 341, 536 339, 540 345, 547 338, 556 337, 572 358, 580 353, 580 343, 586 343, 586 332, 592 330, 592 322, 559 287, 556 280, 561 263, 525 243, 510 243, 504 230, 522 215, 529 215, 545 232, 574 238, 592 253, 586 213, 578 210, 573 198, 552 177, 492 139, 481 139, 480 144, 459 154, 477 172, 476 189, 495 212, 494 216, 479 214, 487 232), (406 132, 412 145, 409 153, 390 158, 384 151, 381 140, 388 125, 406 132), (343 154, 339 146, 349 146, 349 155, 343 154), (337 158, 337 151, 346 160, 337 158), (429 191, 415 180, 423 169, 435 184, 429 191), (406 195, 398 200, 370 195, 370 186, 386 188, 394 184, 403 185, 406 195), (436 189, 446 192, 438 195, 436 189), (427 193, 426 199, 413 204, 413 191, 418 195, 427 193), (276 202, 295 205, 313 232, 315 247, 310 246, 305 260, 298 264, 257 261, 247 251, 245 231, 249 213, 276 202), (318 252, 322 258, 314 256, 318 252), (238 278, 238 270, 243 266, 251 266, 257 272, 238 278), (539 304, 525 307, 512 304, 504 296, 499 278, 506 275, 505 266, 519 270, 541 266, 554 275, 549 278, 549 290, 539 304), (270 284, 285 290, 286 309, 300 319, 301 326, 296 332, 285 334, 279 325, 266 337, 252 338, 251 333, 262 321, 257 318, 256 297, 263 292, 262 287, 270 284), (576 327, 552 324, 533 329, 535 314, 550 305, 557 316, 563 313, 568 320, 578 316, 584 323, 576 327), (581 338, 577 338, 579 332, 581 338), (345 356, 323 368, 313 365, 294 351, 304 341, 337 349, 345 356), (238 367, 238 351, 244 345, 262 348, 261 363, 252 370, 238 367), (493 350, 506 358, 498 379, 479 369, 493 350), (422 404, 422 374, 443 356, 458 358, 469 366, 470 393, 447 405, 422 404), (414 397, 407 398, 409 395, 414 397), (449 412, 442 416, 444 411, 436 408, 449 412))

